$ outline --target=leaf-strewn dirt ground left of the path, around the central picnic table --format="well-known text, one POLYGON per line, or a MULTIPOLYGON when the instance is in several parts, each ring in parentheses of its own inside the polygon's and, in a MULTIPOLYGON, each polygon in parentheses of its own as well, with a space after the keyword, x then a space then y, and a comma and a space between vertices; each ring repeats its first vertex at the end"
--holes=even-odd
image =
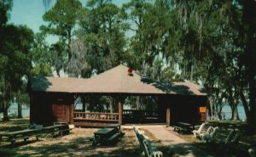
MULTIPOLYGON (((139 145, 132 130, 124 130, 125 136, 112 146, 91 146, 90 137, 95 128, 75 128, 69 135, 63 137, 31 138, 30 142, 18 142, 6 146, 10 156, 141 156, 139 145)), ((5 153, 6 154, 6 153, 5 153)), ((1 151, 0 151, 0 156, 1 151)))

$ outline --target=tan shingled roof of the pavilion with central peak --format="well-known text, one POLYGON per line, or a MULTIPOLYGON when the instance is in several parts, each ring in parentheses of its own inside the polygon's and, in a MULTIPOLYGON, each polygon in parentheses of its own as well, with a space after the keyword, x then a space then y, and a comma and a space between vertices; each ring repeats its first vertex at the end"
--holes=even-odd
POLYGON ((90 79, 32 76, 29 86, 34 92, 206 95, 193 82, 154 81, 135 71, 128 75, 128 69, 120 64, 90 79))

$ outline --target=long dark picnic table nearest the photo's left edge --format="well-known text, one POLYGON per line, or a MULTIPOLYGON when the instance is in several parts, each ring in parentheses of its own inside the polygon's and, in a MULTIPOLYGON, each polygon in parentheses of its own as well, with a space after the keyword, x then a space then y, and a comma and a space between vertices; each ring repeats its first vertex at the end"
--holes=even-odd
POLYGON ((15 143, 18 139, 23 139, 25 142, 29 137, 41 137, 42 133, 40 129, 26 129, 16 132, 4 132, 0 133, 0 143, 2 141, 7 141, 10 143, 15 143))

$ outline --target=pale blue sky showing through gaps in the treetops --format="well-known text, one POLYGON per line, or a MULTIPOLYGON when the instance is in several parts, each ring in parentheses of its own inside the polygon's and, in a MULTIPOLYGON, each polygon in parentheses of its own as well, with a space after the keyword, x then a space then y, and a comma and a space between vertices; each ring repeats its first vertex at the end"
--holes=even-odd
MULTIPOLYGON (((47 0, 46 0, 47 1, 47 0)), ((84 5, 87 0, 80 0, 84 5)), ((9 22, 15 25, 27 25, 34 32, 39 31, 40 25, 45 25, 43 15, 46 11, 44 8, 44 0, 14 0, 14 6, 11 11, 9 22)), ((49 1, 49 7, 52 7, 55 0, 49 1)), ((121 6, 125 0, 113 0, 113 3, 121 6)), ((48 42, 55 42, 53 37, 48 38, 48 42)))

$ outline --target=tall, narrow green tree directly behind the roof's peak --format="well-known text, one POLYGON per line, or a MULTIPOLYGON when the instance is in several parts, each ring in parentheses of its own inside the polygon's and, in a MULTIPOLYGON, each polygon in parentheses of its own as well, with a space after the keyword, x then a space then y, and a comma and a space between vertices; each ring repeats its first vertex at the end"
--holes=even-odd
MULTIPOLYGON (((147 21, 146 16, 149 13, 149 8, 152 8, 152 4, 144 0, 125 3, 122 8, 123 16, 130 25, 130 31, 135 31, 136 33, 134 36, 131 36, 126 58, 128 64, 137 70, 142 70, 143 63, 148 63, 148 60, 151 59, 151 64, 153 62, 152 58, 150 58, 150 53, 147 52, 147 40, 144 39, 147 36, 144 29, 149 28, 148 25, 144 26, 145 21, 147 21)), ((145 73, 145 71, 143 72, 145 73)))

